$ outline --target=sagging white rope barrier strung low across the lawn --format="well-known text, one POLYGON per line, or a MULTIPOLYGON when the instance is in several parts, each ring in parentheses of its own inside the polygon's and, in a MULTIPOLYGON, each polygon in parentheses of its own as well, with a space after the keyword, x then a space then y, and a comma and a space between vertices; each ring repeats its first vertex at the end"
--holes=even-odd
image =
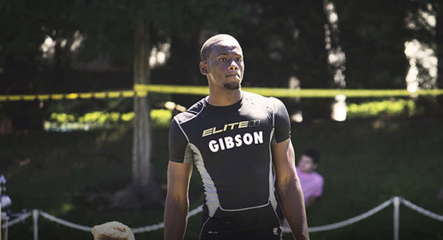
MULTIPOLYGON (((389 205, 391 205, 394 202, 394 198, 395 197, 387 200, 386 202, 378 205, 377 207, 375 207, 375 208, 373 208, 373 209, 371 209, 371 210, 369 210, 369 211, 367 211, 367 212, 365 212, 363 214, 360 214, 358 216, 354 216, 354 217, 351 217, 351 218, 349 218, 347 220, 336 222, 336 223, 332 223, 332 224, 322 225, 322 226, 318 226, 318 227, 310 227, 308 230, 309 230, 309 232, 314 233, 314 232, 320 232, 320 231, 333 230, 333 229, 337 229, 337 228, 343 228, 345 226, 354 224, 354 223, 356 223, 358 221, 361 221, 361 220, 363 220, 365 218, 368 218, 369 216, 372 216, 372 215, 380 212, 381 210, 387 208, 389 205)), ((400 197, 397 197, 397 198, 399 198, 400 199, 400 203, 404 204, 406 207, 408 207, 408 208, 410 208, 410 209, 412 209, 412 210, 414 210, 414 211, 416 211, 416 212, 418 212, 418 213, 420 213, 420 214, 422 214, 424 216, 428 216, 428 217, 436 219, 438 221, 443 221, 443 216, 442 215, 438 215, 438 214, 433 213, 433 212, 431 212, 429 210, 423 209, 423 208, 421 208, 421 207, 411 203, 410 201, 408 201, 406 199, 403 199, 403 198, 400 198, 400 197)), ((192 217, 192 216, 195 216, 195 215, 201 213, 203 211, 202 207, 203 207, 203 205, 200 205, 197 208, 189 211, 188 217, 192 217)), ((2 224, 1 228, 8 228, 8 227, 11 227, 11 226, 19 223, 19 222, 23 222, 26 218, 28 218, 29 216, 32 216, 33 212, 35 212, 35 211, 37 211, 37 210, 33 210, 32 212, 24 213, 22 216, 19 216, 19 217, 15 218, 14 220, 9 221, 7 224, 2 224)), ((45 212, 42 212, 42 211, 37 211, 37 212, 38 212, 38 215, 40 215, 40 216, 42 216, 42 217, 44 217, 44 218, 46 218, 46 219, 48 219, 50 221, 56 222, 58 224, 61 224, 61 225, 64 225, 64 226, 67 226, 67 227, 70 227, 70 228, 74 228, 74 229, 85 231, 85 232, 91 232, 91 230, 92 230, 92 227, 75 224, 75 223, 72 223, 72 222, 60 219, 58 217, 51 216, 48 213, 45 213, 45 212)), ((155 230, 164 228, 164 226, 165 226, 164 222, 159 222, 157 224, 148 225, 148 226, 145 226, 145 227, 133 228, 132 231, 134 233, 144 233, 144 232, 150 232, 150 231, 155 231, 155 230)), ((284 227, 283 228, 283 232, 288 233, 288 232, 290 232, 290 229, 287 228, 287 227, 284 227)))

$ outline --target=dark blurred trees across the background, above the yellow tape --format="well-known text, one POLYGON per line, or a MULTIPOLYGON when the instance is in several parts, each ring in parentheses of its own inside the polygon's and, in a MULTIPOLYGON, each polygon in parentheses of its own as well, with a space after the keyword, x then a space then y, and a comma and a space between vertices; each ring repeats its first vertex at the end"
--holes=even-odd
MULTIPOLYGON (((198 72, 199 48, 208 36, 224 32, 234 35, 243 47, 244 86, 287 87, 288 79, 295 76, 302 88, 332 88, 333 72, 325 49, 327 2, 334 3, 337 11, 338 28, 330 28, 334 31, 331 44, 345 52, 347 88, 405 88, 405 41, 418 39, 442 58, 443 4, 438 0, 0 1, 0 94, 131 88, 132 61, 138 51, 134 29, 143 23, 149 25, 150 48, 170 44, 165 65, 150 72, 152 83, 205 84, 198 72), (426 24, 422 12, 436 16, 435 27, 426 24), (72 50, 79 36, 81 45, 72 50), (41 48, 46 38, 54 44, 51 58, 45 58, 41 48)), ((172 95, 168 100, 190 106, 196 99, 172 95)), ((309 107, 316 111, 312 115, 329 116, 329 102, 317 104, 309 107)), ((17 105, 0 104, 14 128, 29 127, 31 123, 20 119, 31 118, 39 126, 53 112, 38 104, 20 104, 18 116, 17 105)), ((78 114, 131 111, 124 103, 124 110, 98 101, 59 105, 61 112, 74 108, 80 109, 78 114)))

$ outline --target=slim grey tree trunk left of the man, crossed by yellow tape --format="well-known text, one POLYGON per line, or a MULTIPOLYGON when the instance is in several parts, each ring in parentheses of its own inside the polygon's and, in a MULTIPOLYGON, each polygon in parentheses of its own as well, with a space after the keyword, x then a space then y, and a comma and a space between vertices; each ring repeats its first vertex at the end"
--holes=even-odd
MULTIPOLYGON (((149 24, 138 26, 134 35, 134 83, 149 83, 149 24)), ((134 96, 134 135, 132 148, 132 183, 115 195, 113 205, 140 208, 163 203, 151 161, 152 130, 148 96, 134 96)))

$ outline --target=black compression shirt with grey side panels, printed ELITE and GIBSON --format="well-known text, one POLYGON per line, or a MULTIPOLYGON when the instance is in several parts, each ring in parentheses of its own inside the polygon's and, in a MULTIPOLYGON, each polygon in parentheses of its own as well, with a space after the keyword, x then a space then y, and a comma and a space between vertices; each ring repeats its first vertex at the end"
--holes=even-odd
POLYGON ((289 137, 284 104, 243 91, 231 106, 203 98, 173 118, 170 161, 194 163, 203 182, 201 239, 280 239, 271 144, 289 137))

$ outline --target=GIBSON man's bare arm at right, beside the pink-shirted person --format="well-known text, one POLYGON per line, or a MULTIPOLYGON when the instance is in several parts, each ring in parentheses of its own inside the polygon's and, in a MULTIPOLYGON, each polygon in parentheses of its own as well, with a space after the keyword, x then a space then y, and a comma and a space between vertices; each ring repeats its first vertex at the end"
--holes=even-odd
POLYGON ((276 189, 283 213, 296 240, 309 239, 303 192, 295 171, 295 153, 291 139, 272 144, 276 189))

